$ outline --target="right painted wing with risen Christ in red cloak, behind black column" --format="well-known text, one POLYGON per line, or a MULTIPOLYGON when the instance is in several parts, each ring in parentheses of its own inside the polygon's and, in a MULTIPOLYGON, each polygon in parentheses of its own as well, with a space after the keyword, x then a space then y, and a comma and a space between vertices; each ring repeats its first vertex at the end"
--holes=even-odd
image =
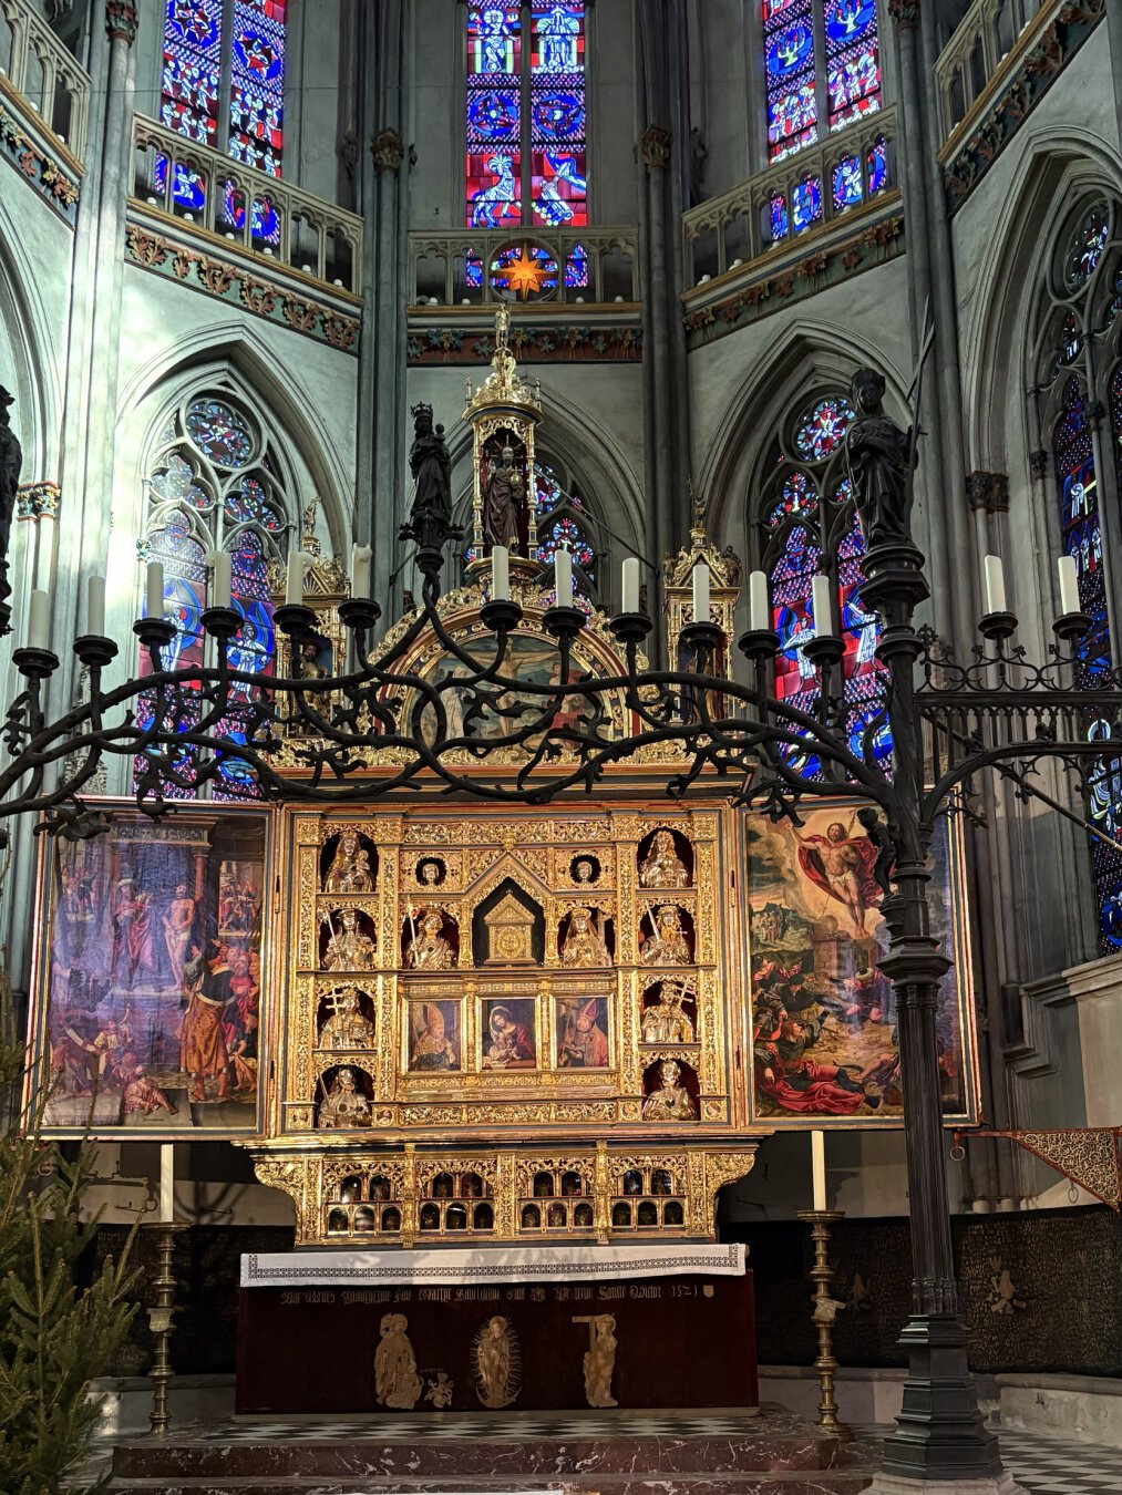
MULTIPOLYGON (((752 818, 747 849, 754 1115, 799 1126, 899 1123, 896 1005, 880 969, 889 930, 874 878, 877 852, 856 806, 814 810, 800 827, 752 818)), ((932 933, 954 960, 936 1015, 942 1109, 947 1120, 972 1120, 963 884, 945 824, 932 851, 932 933)))

